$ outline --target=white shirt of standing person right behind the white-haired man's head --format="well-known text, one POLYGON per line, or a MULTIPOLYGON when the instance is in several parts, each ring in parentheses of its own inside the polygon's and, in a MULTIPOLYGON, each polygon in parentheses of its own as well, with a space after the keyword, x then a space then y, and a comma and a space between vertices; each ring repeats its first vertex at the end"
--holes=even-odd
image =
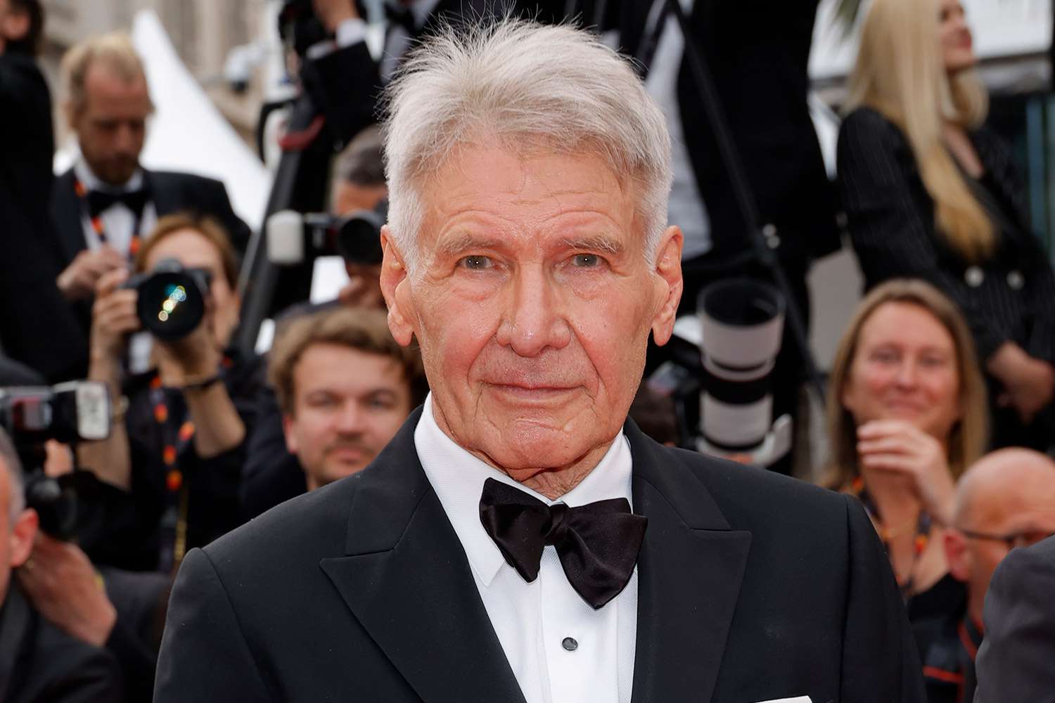
MULTIPOLYGON (((666 5, 666 0, 655 0, 649 13, 642 37, 650 37, 655 30, 659 14, 666 5)), ((686 14, 692 12, 692 0, 682 0, 686 14)), ((644 39, 642 39, 644 41, 644 39)), ((667 212, 668 221, 682 228, 685 235, 685 247, 682 258, 691 259, 706 254, 711 249, 711 222, 707 214, 704 199, 696 184, 696 174, 692 170, 689 150, 685 145, 685 131, 682 124, 682 108, 677 101, 677 74, 682 69, 682 58, 685 56, 685 37, 677 25, 677 19, 670 13, 659 41, 656 43, 652 64, 645 87, 655 99, 664 115, 667 116, 667 129, 671 138, 671 165, 674 171, 674 182, 670 189, 667 212)), ((710 129, 706 125, 691 124, 691 129, 710 129)))

